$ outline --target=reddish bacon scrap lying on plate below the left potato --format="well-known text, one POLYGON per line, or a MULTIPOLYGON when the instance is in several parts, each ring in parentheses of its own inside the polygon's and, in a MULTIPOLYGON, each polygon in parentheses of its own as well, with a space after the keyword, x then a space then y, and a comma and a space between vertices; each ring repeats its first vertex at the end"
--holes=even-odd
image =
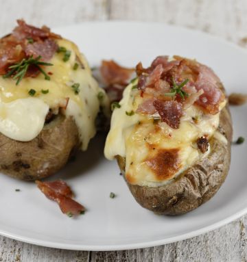
POLYGON ((35 181, 35 183, 47 198, 58 203, 62 213, 67 213, 67 215, 72 216, 79 215, 85 211, 85 208, 82 205, 72 199, 73 193, 64 181, 35 181))

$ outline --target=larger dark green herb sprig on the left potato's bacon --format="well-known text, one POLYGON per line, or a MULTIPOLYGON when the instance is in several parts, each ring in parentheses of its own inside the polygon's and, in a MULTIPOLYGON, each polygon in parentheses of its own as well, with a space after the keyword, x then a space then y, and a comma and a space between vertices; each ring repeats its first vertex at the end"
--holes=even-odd
POLYGON ((8 71, 8 73, 3 75, 3 78, 12 77, 14 80, 16 80, 16 86, 17 86, 21 82, 23 77, 25 77, 25 74, 27 73, 27 69, 29 68, 29 66, 34 65, 45 76, 46 80, 50 80, 51 77, 49 77, 49 75, 47 75, 47 73, 45 73, 43 68, 41 68, 40 66, 53 66, 53 64, 42 62, 40 61, 40 59, 41 59, 40 55, 36 58, 33 58, 33 56, 29 58, 24 58, 23 60, 21 60, 21 62, 9 66, 8 69, 10 70, 8 71))

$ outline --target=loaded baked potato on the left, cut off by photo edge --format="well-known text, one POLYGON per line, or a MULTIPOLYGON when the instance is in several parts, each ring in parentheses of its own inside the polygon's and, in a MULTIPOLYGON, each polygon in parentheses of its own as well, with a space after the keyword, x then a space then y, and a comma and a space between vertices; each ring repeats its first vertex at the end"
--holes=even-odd
POLYGON ((86 150, 108 98, 73 42, 18 21, 0 40, 0 171, 17 179, 54 174, 86 150))

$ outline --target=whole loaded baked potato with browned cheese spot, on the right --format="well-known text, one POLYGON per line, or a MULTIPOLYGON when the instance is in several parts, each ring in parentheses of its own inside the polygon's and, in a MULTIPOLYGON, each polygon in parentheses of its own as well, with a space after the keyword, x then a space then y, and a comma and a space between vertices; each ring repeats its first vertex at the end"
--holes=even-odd
POLYGON ((114 109, 104 153, 117 159, 142 207, 187 213, 228 174, 233 127, 224 87, 209 67, 178 56, 139 63, 136 72, 114 109))

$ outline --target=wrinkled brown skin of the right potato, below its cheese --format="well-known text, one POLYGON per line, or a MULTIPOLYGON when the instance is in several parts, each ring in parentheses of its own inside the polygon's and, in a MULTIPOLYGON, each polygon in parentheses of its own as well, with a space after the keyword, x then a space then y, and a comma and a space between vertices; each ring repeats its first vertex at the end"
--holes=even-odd
MULTIPOLYGON (((226 179, 231 161, 231 141, 233 127, 228 106, 220 112, 217 129, 226 137, 228 144, 211 139, 211 153, 197 161, 172 183, 160 187, 131 185, 130 192, 142 207, 164 215, 179 215, 196 209, 215 195, 226 179)), ((117 156, 121 172, 124 174, 125 158, 117 156)))

